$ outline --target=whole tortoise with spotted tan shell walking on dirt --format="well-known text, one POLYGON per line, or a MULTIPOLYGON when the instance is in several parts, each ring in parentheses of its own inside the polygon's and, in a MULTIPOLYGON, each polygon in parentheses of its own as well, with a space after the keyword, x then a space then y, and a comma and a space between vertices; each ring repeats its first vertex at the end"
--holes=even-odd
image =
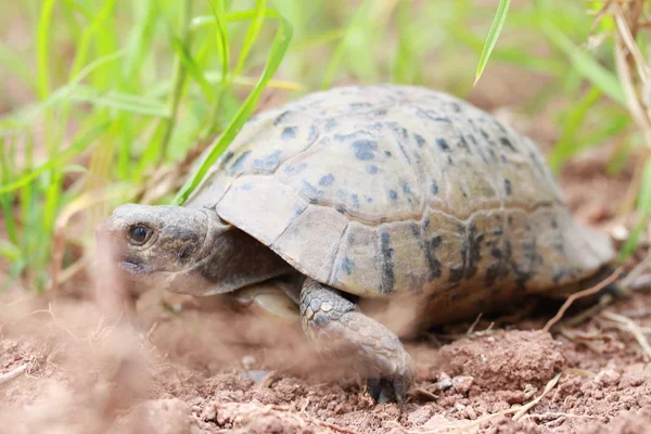
POLYGON ((182 207, 120 205, 100 232, 127 276, 173 292, 285 279, 308 341, 381 403, 401 403, 414 375, 396 328, 567 295, 614 258, 609 237, 573 219, 531 139, 456 97, 397 85, 259 113, 182 207), (387 317, 403 321, 392 331, 363 301, 409 310, 387 317))

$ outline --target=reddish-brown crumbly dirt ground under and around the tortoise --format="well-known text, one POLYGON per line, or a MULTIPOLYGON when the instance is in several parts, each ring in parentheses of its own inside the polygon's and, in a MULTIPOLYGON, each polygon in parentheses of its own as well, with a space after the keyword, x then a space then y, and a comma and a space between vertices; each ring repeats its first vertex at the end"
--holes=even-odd
MULTIPOLYGON (((546 146, 540 119, 519 129, 546 146)), ((631 174, 607 177, 602 153, 561 182, 577 219, 613 231, 631 174)), ((0 434, 651 432, 648 293, 569 312, 551 333, 558 306, 409 341, 417 381, 398 406, 318 360, 298 322, 154 291, 116 317, 93 276, 111 278, 0 294, 0 434)))

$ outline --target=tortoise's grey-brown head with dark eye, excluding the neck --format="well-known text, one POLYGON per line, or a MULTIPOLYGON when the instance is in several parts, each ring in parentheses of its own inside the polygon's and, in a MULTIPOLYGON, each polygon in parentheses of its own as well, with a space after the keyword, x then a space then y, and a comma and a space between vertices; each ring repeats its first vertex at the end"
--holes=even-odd
POLYGON ((181 206, 122 205, 98 227, 98 246, 133 280, 163 284, 179 273, 190 278, 209 256, 219 232, 215 228, 218 217, 209 213, 181 206))

